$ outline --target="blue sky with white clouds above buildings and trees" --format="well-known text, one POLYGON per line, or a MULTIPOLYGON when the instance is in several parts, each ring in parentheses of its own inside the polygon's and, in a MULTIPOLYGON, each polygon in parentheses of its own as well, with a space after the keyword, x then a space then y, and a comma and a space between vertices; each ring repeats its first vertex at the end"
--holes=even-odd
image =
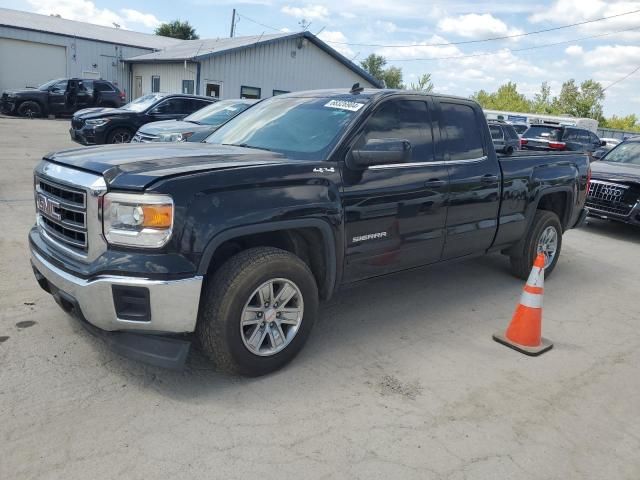
POLYGON ((430 73, 441 93, 469 96, 512 81, 531 96, 543 81, 557 94, 565 80, 593 78, 604 87, 618 82, 606 91, 605 115, 640 116, 640 71, 620 81, 640 67, 640 0, 0 0, 0 6, 149 33, 179 18, 201 38, 229 36, 235 7, 236 36, 299 31, 305 20, 311 33, 354 62, 384 55, 402 68, 407 84, 430 73), (478 42, 514 35, 521 36, 478 42))

